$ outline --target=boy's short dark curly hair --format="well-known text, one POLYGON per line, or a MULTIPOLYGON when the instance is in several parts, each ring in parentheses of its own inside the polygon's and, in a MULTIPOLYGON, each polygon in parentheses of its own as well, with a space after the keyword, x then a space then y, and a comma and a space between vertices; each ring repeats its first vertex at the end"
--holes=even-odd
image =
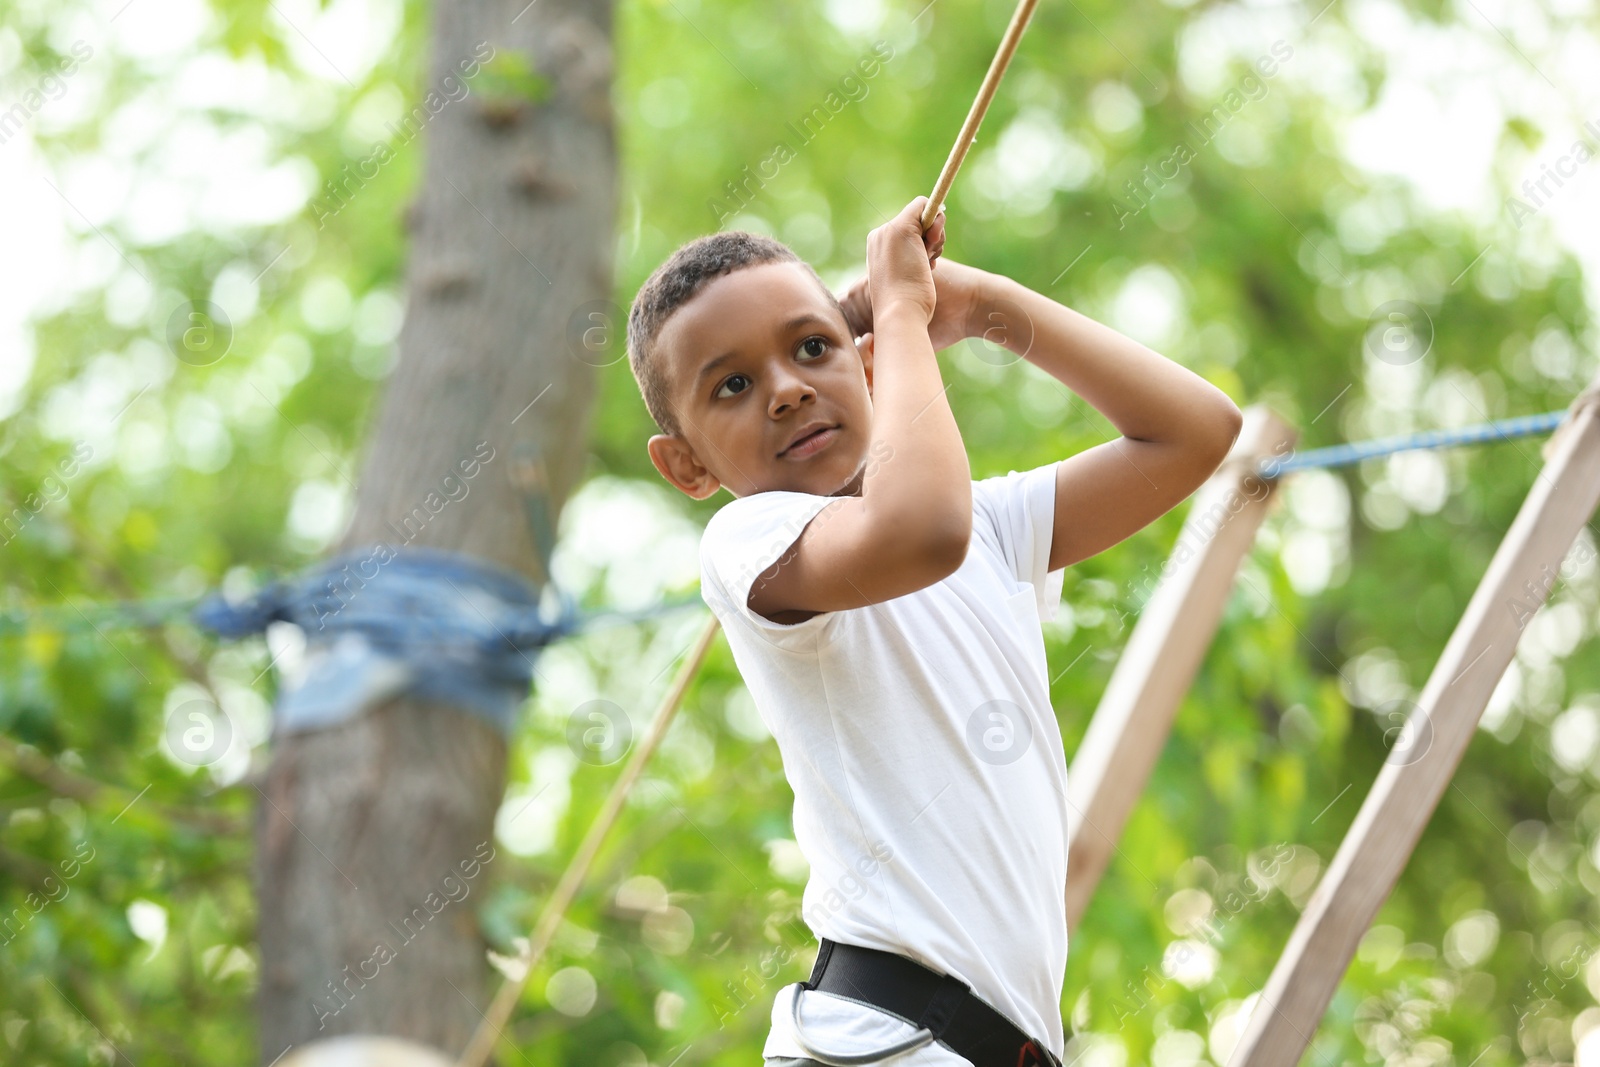
POLYGON ((779 240, 747 230, 707 234, 682 245, 654 274, 638 286, 627 312, 627 363, 634 370, 645 408, 662 434, 680 434, 680 426, 667 395, 667 378, 656 352, 656 338, 675 310, 688 304, 712 280, 741 267, 768 262, 797 262, 816 278, 829 304, 845 310, 832 290, 805 259, 779 240))

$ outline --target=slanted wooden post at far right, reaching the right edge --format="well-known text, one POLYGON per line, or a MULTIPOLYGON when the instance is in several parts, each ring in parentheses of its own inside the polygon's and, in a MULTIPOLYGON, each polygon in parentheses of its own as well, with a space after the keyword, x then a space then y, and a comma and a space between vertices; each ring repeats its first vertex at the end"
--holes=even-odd
POLYGON ((1574 406, 1483 581, 1272 971, 1230 1067, 1290 1067, 1310 1045, 1362 936, 1389 897, 1467 742, 1600 502, 1600 378, 1574 406))

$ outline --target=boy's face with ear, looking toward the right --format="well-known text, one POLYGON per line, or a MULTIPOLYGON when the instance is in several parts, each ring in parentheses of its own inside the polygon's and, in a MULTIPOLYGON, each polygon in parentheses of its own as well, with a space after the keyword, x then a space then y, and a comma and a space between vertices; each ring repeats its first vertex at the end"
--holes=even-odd
POLYGON ((872 342, 798 262, 710 282, 656 338, 682 434, 650 458, 694 499, 790 490, 856 493, 872 435, 872 342), (818 427, 826 427, 813 435, 818 427))

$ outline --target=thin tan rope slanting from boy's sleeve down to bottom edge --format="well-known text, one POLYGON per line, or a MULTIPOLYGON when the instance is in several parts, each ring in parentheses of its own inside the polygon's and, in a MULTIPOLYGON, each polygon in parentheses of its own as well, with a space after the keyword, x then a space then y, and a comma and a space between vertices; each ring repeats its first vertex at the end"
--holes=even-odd
POLYGON ((656 747, 667 733, 667 726, 672 725, 672 717, 677 713, 678 704, 683 702, 683 694, 688 691, 690 681, 699 673, 701 662, 704 662, 706 653, 710 649, 712 638, 715 637, 717 617, 712 616, 706 622, 706 629, 701 630, 699 640, 694 641, 694 648, 690 649, 688 659, 683 661, 677 677, 672 680, 672 688, 662 697, 661 707, 650 725, 650 733, 634 749, 634 755, 629 757, 622 776, 616 779, 605 803, 600 805, 598 814, 595 814, 594 822, 589 825, 582 845, 578 846, 573 859, 566 864, 566 870, 562 872, 560 881, 555 883, 555 889, 550 891, 550 897, 544 902, 544 910, 539 912, 539 920, 528 936, 528 945, 517 957, 515 977, 507 977, 501 984, 499 992, 494 993, 494 1001, 490 1003, 488 1013, 485 1013, 483 1021, 474 1032, 467 1049, 456 1061, 456 1067, 483 1067, 488 1062, 490 1054, 494 1051, 494 1041, 501 1038, 506 1024, 510 1022, 510 1013, 517 1008, 517 1000, 522 998, 522 990, 528 985, 528 976, 533 974, 533 968, 544 958, 544 952, 550 947, 550 939, 555 937, 555 931, 566 917, 566 909, 571 905, 573 897, 578 896, 578 886, 589 875, 589 867, 594 864, 595 853, 600 851, 600 843, 616 824, 616 817, 622 811, 622 801, 627 800, 627 793, 634 789, 634 782, 638 781, 645 763, 654 755, 656 747))

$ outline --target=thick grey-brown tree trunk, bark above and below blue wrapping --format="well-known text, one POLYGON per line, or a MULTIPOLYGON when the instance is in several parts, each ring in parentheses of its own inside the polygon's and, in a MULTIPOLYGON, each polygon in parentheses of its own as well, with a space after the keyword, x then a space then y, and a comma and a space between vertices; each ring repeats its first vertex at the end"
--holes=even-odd
MULTIPOLYGON (((451 549, 542 581, 539 530, 581 475, 603 362, 570 336, 611 296, 610 91, 610 0, 437 0, 424 98, 454 99, 421 133, 398 362, 341 549, 451 549)), ((256 819, 262 1064, 339 1033, 461 1051, 486 1001, 474 909, 504 777, 491 725, 413 699, 275 739, 256 819), (448 873, 469 894, 424 921, 448 873)))

